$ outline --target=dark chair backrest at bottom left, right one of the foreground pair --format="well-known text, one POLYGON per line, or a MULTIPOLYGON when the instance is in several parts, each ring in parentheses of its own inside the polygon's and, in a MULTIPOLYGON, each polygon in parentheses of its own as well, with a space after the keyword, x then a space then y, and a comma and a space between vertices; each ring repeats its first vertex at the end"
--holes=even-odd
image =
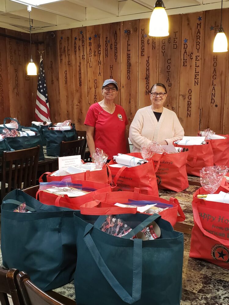
POLYGON ((24 271, 17 274, 17 283, 25 305, 64 305, 35 286, 24 271))

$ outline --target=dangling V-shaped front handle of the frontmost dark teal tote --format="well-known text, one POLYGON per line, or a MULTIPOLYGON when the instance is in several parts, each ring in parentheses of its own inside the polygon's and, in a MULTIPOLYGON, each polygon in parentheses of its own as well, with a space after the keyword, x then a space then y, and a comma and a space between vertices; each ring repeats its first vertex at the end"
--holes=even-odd
POLYGON ((101 257, 96 244, 94 243, 90 230, 94 226, 92 224, 87 224, 84 231, 84 241, 88 247, 96 265, 99 267, 101 273, 106 278, 107 282, 115 290, 118 296, 128 304, 133 304, 140 300, 141 298, 141 287, 142 287, 142 239, 134 239, 133 241, 133 286, 132 286, 132 296, 122 287, 115 276, 112 274, 110 269, 107 267, 103 258, 101 257))

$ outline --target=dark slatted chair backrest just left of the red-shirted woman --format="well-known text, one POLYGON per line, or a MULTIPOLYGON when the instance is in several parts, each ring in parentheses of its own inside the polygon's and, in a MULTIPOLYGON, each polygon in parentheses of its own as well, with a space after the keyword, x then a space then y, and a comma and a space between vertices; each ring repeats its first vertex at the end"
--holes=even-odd
POLYGON ((81 155, 81 159, 84 160, 86 142, 86 139, 69 142, 62 141, 60 143, 60 157, 81 155))

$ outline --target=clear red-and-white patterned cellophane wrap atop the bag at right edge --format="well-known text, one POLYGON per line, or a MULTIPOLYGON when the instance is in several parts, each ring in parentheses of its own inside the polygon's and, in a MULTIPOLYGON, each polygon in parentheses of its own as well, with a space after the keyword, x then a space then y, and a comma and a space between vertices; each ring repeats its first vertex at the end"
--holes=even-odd
POLYGON ((227 166, 208 166, 200 170, 200 184, 209 194, 213 194, 220 187, 220 183, 227 174, 227 166))

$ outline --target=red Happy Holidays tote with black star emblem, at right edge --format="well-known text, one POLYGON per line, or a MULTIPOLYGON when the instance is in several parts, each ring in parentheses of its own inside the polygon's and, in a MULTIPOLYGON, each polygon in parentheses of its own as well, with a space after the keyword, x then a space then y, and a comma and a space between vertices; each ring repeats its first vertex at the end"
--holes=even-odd
POLYGON ((229 204, 197 198, 206 193, 199 188, 193 195, 194 227, 189 256, 229 269, 229 204))

